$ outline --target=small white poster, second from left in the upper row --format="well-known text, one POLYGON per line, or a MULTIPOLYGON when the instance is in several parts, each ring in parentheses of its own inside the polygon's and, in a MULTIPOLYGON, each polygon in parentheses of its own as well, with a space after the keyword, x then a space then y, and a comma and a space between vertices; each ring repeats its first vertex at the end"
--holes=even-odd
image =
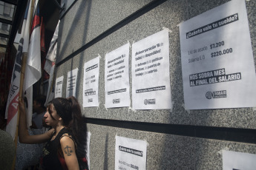
POLYGON ((76 98, 77 72, 78 72, 78 68, 68 72, 66 98, 70 96, 73 96, 76 98))

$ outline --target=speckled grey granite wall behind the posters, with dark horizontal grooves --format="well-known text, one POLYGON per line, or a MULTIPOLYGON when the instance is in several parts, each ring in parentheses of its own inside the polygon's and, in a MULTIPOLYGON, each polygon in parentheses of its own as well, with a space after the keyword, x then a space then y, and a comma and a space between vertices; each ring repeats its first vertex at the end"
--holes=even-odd
MULTIPOLYGON (((78 0, 70 6, 60 21, 56 58, 56 78, 64 75, 62 96, 65 96, 68 71, 77 67, 76 97, 82 103, 84 64, 101 56, 99 107, 82 109, 91 132, 91 169, 114 169, 116 135, 148 142, 147 169, 222 169, 222 149, 256 154, 255 109, 184 109, 177 25, 227 1, 78 0), (171 30, 169 50, 173 109, 105 109, 106 52, 127 42, 140 41, 163 30, 163 27, 171 30)), ((246 1, 256 60, 255 7, 255 0, 246 1)))

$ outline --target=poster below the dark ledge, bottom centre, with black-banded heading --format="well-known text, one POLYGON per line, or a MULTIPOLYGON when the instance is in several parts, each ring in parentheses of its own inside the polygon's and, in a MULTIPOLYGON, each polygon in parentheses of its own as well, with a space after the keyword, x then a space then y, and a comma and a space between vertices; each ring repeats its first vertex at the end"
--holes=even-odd
POLYGON ((147 141, 116 136, 115 169, 146 169, 147 141))

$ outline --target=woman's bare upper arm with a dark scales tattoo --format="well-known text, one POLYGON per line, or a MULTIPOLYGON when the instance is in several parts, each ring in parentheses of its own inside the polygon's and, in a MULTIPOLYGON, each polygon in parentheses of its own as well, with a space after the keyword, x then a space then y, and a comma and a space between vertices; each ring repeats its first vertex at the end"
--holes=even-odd
POLYGON ((76 157, 76 147, 73 140, 68 136, 63 136, 60 140, 65 163, 68 169, 79 170, 79 164, 76 157))

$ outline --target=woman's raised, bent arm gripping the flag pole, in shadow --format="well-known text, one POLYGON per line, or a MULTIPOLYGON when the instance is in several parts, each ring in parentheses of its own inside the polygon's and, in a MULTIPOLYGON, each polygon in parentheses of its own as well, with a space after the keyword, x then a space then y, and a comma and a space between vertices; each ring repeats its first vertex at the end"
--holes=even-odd
POLYGON ((53 133, 53 129, 45 132, 42 135, 29 135, 27 131, 26 123, 26 112, 24 108, 24 100, 19 99, 19 142, 20 143, 45 143, 50 139, 50 136, 53 133))

